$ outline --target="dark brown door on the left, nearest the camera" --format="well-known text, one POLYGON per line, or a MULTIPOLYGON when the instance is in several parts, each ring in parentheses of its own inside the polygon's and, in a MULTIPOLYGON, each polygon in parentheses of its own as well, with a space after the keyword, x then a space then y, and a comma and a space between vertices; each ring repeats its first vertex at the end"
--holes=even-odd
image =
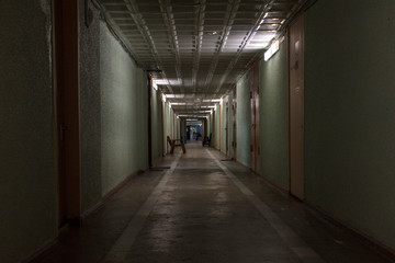
POLYGON ((79 222, 79 19, 77 0, 53 1, 54 98, 58 148, 58 225, 79 222))

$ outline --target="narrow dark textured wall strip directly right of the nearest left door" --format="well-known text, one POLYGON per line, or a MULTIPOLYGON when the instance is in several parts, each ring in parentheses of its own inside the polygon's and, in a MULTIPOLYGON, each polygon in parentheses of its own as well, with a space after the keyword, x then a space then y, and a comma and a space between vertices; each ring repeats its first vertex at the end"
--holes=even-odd
MULTIPOLYGON (((80 60, 80 136, 81 136, 81 210, 101 201, 101 92, 100 92, 100 21, 98 11, 88 28, 84 23, 84 1, 81 10, 80 60)), ((91 10, 94 10, 90 5, 91 10)))

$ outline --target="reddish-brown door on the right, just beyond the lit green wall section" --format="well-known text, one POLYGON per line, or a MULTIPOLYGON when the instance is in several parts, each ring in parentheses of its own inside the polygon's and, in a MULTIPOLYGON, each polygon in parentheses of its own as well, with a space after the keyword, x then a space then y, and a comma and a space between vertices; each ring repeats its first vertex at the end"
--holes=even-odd
POLYGON ((259 173, 259 64, 255 61, 250 71, 250 104, 251 104, 251 169, 259 173))

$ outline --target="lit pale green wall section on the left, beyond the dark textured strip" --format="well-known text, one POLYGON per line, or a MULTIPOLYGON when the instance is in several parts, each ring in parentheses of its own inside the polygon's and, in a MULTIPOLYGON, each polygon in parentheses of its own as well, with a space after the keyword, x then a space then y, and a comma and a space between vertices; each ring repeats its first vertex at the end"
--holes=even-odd
POLYGON ((108 193, 147 168, 147 79, 100 24, 101 180, 108 193), (143 108, 143 110, 142 110, 143 108))

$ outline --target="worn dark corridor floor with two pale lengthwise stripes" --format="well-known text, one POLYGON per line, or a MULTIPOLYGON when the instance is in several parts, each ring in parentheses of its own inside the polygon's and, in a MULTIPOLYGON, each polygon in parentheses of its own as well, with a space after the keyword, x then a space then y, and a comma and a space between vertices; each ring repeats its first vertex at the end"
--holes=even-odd
POLYGON ((391 262, 221 152, 187 146, 36 262, 391 262))

